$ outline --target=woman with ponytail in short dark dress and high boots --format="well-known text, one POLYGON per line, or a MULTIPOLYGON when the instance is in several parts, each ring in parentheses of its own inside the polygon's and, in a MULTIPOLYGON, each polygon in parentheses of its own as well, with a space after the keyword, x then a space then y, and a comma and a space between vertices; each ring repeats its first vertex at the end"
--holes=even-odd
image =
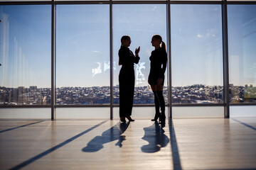
POLYGON ((164 86, 164 72, 166 71, 167 53, 166 45, 160 35, 153 35, 151 44, 155 47, 155 50, 151 52, 150 60, 150 72, 149 72, 149 84, 154 93, 154 102, 156 108, 156 114, 152 121, 156 121, 159 118, 161 124, 165 124, 165 103, 163 96, 164 86), (159 112, 161 108, 161 113, 159 112))

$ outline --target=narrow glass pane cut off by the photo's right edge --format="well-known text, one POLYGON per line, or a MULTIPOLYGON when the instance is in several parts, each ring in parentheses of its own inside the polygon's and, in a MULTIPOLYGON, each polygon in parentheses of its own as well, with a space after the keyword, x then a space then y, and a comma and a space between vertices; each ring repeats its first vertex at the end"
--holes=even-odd
POLYGON ((256 5, 228 5, 230 102, 256 103, 256 5))

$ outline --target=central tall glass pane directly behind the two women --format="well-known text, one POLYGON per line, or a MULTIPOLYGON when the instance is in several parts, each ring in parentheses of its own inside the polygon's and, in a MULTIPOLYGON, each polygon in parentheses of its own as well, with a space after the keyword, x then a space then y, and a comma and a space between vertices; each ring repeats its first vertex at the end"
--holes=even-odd
MULTIPOLYGON (((151 37, 159 34, 166 42, 166 5, 113 5, 113 57, 114 57, 114 103, 119 103, 118 51, 122 35, 129 35, 132 52, 140 46, 139 64, 134 65, 134 103, 154 103, 154 94, 149 88, 149 57, 154 47, 151 37)), ((134 53, 135 54, 135 53, 134 53)), ((167 69, 165 73, 164 95, 167 96, 167 69)), ((167 98, 165 98, 167 102, 167 98)))

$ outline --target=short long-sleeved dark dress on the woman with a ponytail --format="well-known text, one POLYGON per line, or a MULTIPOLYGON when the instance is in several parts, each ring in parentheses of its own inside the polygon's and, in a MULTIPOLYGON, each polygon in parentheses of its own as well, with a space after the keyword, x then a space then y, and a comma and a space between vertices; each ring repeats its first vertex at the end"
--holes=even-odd
POLYGON ((157 79, 163 79, 162 85, 164 85, 164 72, 166 71, 167 53, 163 48, 158 48, 151 52, 150 60, 150 72, 149 72, 149 84, 157 84, 157 79), (162 66, 163 65, 163 66, 162 66))

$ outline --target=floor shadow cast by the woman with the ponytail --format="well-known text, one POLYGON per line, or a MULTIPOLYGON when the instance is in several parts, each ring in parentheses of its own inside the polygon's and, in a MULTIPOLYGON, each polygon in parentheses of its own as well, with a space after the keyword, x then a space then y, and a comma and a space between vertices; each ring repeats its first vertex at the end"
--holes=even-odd
POLYGON ((149 142, 149 144, 142 146, 142 152, 159 152, 161 147, 166 147, 166 145, 169 143, 169 138, 164 135, 164 129, 161 128, 157 122, 144 128, 144 131, 145 135, 142 137, 142 140, 146 140, 149 142))

